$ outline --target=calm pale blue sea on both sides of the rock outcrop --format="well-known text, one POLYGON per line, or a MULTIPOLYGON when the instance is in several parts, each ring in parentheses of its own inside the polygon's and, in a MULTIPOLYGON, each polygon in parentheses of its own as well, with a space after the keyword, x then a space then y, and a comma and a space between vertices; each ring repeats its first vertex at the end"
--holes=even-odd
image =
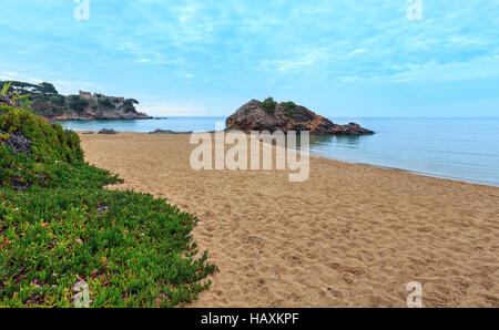
MULTIPOLYGON (((376 132, 369 136, 312 136, 314 155, 499 186, 499 118, 330 118, 376 132)), ((224 117, 61 122, 70 130, 149 133, 156 128, 214 131, 224 117)))

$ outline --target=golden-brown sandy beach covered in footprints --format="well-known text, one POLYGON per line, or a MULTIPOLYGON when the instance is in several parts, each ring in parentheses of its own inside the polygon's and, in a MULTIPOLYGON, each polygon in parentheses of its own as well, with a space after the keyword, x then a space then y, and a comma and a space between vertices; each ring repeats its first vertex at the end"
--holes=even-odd
POLYGON ((193 307, 499 307, 499 188, 310 158, 200 171, 189 135, 80 135, 85 158, 200 219, 220 271, 193 307))

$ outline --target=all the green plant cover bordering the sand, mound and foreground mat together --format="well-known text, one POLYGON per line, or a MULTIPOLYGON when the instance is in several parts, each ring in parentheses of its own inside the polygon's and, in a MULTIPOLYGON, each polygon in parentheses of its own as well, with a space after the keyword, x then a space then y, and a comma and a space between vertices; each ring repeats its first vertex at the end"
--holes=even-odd
POLYGON ((208 288, 197 219, 84 163, 79 136, 27 110, 0 106, 0 307, 173 307, 208 288), (13 136, 29 152, 9 147, 13 136), (196 257, 197 256, 197 257, 196 257))

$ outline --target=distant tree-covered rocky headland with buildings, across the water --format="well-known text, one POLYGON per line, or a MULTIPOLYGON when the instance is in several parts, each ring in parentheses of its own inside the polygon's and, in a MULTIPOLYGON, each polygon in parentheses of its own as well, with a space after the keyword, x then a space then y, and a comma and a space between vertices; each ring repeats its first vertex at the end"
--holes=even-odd
MULTIPOLYGON (((2 86, 6 82, 0 82, 2 86)), ((147 120, 149 115, 139 112, 134 99, 106 96, 82 92, 78 95, 61 95, 51 83, 32 84, 13 81, 9 92, 29 95, 18 102, 19 106, 51 121, 89 120, 147 120)), ((1 102, 1 101, 0 101, 1 102)))

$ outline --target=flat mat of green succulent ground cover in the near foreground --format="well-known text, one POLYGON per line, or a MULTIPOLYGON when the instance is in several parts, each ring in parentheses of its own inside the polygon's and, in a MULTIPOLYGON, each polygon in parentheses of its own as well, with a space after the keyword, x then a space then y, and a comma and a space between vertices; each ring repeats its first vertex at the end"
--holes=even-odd
POLYGON ((164 199, 104 189, 0 190, 0 306, 173 307, 210 286, 196 219, 164 199))

